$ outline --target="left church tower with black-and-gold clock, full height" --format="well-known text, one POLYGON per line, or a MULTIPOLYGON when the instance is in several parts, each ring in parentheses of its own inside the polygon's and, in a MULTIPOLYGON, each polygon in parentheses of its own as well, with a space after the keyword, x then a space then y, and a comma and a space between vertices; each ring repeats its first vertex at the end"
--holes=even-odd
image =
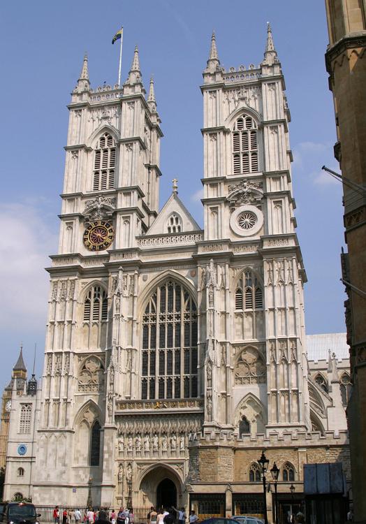
MULTIPOLYGON (((33 495, 36 503, 53 504, 57 488, 59 504, 83 505, 92 482, 94 504, 108 505, 125 349, 113 326, 114 296, 128 280, 124 302, 136 303, 131 252, 159 206, 162 133, 154 82, 146 94, 138 48, 122 86, 92 89, 85 56, 68 110, 59 247, 47 269, 33 495)), ((121 306, 125 310, 129 305, 121 306)))

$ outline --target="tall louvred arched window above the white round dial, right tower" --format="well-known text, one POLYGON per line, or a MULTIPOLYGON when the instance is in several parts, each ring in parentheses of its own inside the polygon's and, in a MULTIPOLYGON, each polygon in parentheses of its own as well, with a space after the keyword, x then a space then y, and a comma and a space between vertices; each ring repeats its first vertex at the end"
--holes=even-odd
POLYGON ((258 171, 258 129, 251 117, 242 115, 233 129, 234 175, 258 171))

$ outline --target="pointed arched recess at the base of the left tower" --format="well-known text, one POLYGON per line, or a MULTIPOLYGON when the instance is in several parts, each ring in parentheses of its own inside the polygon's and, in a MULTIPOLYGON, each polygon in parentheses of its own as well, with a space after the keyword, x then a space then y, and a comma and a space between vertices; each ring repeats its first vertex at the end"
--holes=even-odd
MULTIPOLYGON (((88 400, 83 405, 78 414, 74 419, 73 427, 75 428, 75 446, 74 446, 74 460, 75 464, 80 466, 97 465, 96 464, 96 451, 93 450, 92 456, 92 441, 95 435, 93 434, 93 428, 96 423, 98 424, 98 430, 101 430, 101 410, 93 400, 88 400), (93 463, 92 463, 93 462, 93 463)), ((95 432, 94 432, 95 433, 95 432)), ((99 437, 99 453, 101 456, 100 449, 102 446, 102 439, 99 437)), ((98 465, 100 465, 98 461, 98 465)))

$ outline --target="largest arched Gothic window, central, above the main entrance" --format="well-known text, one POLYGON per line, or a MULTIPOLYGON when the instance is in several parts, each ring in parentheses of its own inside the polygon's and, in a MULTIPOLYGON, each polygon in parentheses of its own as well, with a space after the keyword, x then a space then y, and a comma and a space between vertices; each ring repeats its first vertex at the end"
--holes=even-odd
POLYGON ((142 317, 142 399, 197 397, 197 365, 196 303, 168 281, 156 288, 142 317))

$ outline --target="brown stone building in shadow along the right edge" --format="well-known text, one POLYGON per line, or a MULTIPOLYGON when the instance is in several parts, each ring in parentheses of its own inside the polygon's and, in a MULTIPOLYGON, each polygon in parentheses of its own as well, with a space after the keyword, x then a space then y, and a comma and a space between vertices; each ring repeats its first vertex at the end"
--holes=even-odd
POLYGON ((329 45, 325 54, 335 104, 335 157, 342 169, 342 254, 346 325, 351 347, 353 394, 347 410, 351 443, 355 521, 366 523, 366 5, 326 0, 329 45))

